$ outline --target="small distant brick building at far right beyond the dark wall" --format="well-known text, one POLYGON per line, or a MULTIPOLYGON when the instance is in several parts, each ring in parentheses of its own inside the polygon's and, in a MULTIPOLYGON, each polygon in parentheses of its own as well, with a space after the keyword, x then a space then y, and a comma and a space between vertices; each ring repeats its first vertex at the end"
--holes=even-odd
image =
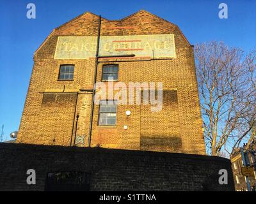
POLYGON ((256 191, 256 138, 230 156, 236 191, 256 191))

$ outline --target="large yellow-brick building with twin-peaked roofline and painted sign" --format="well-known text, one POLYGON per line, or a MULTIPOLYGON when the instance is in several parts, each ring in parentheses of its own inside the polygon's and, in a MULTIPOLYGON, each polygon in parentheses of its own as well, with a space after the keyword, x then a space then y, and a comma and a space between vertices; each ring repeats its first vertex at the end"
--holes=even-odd
POLYGON ((17 143, 88 147, 91 135, 92 147, 205 154, 193 46, 179 27, 143 10, 99 19, 83 13, 36 50, 17 143), (104 84, 162 82, 161 111, 95 104, 91 123, 95 64, 104 84))

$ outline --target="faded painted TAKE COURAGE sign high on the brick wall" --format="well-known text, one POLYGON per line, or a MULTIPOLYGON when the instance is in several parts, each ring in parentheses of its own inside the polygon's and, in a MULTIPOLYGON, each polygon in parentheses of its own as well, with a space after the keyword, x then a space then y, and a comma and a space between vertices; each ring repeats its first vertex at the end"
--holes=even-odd
MULTIPOLYGON (((97 36, 59 36, 54 59, 95 57, 97 36)), ((101 36, 99 55, 135 54, 136 57, 175 58, 174 34, 101 36)))

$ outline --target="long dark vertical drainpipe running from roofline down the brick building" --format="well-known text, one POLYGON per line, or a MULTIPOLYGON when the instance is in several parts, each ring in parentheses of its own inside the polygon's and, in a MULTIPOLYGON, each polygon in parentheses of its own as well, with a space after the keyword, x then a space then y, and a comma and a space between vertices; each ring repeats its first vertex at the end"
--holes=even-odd
POLYGON ((93 80, 92 108, 91 108, 91 117, 90 117, 90 129, 89 129, 89 135, 88 135, 88 147, 91 147, 91 139, 92 139, 95 84, 97 80, 97 69, 98 69, 98 61, 99 61, 100 26, 101 26, 101 15, 99 16, 99 25, 98 25, 98 38, 97 38, 97 50, 96 50, 96 56, 95 56, 95 72, 94 72, 94 80, 93 80))

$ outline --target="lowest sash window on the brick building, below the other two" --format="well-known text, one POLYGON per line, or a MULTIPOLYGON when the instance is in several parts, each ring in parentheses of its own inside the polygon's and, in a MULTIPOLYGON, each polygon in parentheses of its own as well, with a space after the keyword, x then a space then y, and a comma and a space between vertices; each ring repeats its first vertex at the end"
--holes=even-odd
POLYGON ((116 125, 116 101, 100 101, 99 126, 116 125))

